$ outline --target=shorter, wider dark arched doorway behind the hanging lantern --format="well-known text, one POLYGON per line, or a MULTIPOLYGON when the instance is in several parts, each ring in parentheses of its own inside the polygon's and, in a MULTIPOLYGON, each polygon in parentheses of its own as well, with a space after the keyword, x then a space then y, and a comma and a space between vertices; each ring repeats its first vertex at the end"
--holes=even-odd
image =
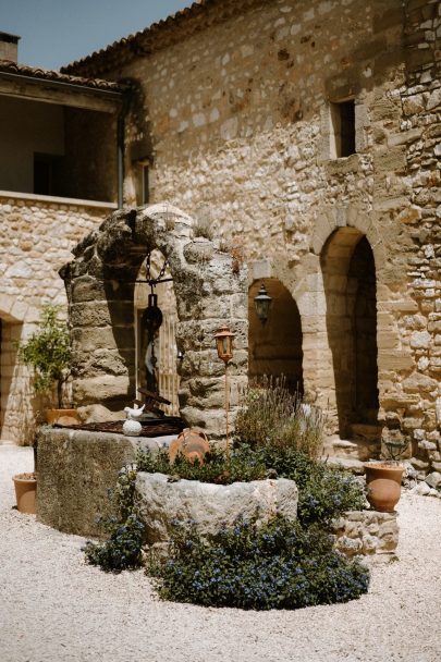
POLYGON ((270 317, 262 326, 254 306, 260 284, 256 281, 248 293, 249 378, 284 375, 290 391, 303 394, 302 322, 297 305, 283 283, 266 279, 272 304, 270 317))

